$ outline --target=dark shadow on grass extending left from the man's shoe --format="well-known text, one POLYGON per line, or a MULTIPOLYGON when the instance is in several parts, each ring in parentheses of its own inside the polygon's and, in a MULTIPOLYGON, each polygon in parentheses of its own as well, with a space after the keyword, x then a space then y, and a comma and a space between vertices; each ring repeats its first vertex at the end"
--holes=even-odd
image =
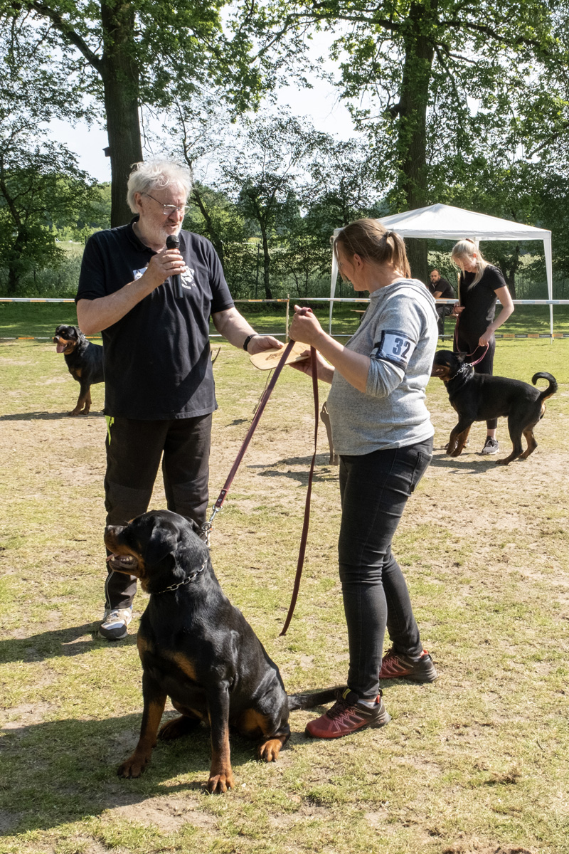
POLYGON ((124 646, 136 644, 136 635, 127 635, 123 640, 103 640, 96 635, 97 623, 84 623, 82 626, 70 626, 67 629, 54 629, 40 635, 27 638, 9 638, 0 640, 0 662, 45 661, 58 656, 83 655, 93 652, 97 647, 120 650, 124 646))

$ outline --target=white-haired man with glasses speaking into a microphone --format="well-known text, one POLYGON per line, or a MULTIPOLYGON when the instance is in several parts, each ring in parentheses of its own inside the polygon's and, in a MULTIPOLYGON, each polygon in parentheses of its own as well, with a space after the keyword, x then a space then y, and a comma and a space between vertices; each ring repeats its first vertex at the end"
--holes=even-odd
MULTIPOLYGON (((107 524, 146 512, 160 459, 168 509, 206 519, 212 412, 217 409, 209 319, 247 353, 282 347, 258 336, 236 310, 218 255, 181 231, 189 173, 171 161, 136 164, 128 225, 99 231, 85 246, 78 324, 102 332, 107 417, 107 524)), ((99 634, 127 635, 136 579, 109 572, 99 634)))

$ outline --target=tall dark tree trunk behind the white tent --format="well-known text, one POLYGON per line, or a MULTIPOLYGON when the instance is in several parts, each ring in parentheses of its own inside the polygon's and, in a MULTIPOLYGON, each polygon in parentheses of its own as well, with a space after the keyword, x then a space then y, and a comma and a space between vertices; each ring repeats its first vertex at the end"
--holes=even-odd
MULTIPOLYGON (((409 210, 424 208, 427 189, 427 104, 433 39, 428 32, 436 20, 438 0, 411 3, 404 24, 405 59, 399 98, 398 149, 401 154, 400 186, 409 210)), ((417 238, 406 241, 411 273, 427 281, 427 242, 417 238)))

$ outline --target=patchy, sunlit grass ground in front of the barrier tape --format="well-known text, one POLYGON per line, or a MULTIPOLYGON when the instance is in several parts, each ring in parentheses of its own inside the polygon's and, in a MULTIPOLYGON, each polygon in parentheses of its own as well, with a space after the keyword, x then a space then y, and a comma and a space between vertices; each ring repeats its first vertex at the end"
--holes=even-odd
MULTIPOLYGON (((51 333, 54 320, 42 321, 51 333)), ((136 743, 142 697, 134 634, 115 645, 96 637, 105 577, 103 389, 93 389, 89 418, 67 418, 78 384, 53 344, 0 343, 0 854, 569 851, 568 357, 566 340, 498 342, 496 373, 527 381, 550 371, 560 383, 537 427, 536 453, 506 469, 473 453, 483 425, 473 428, 471 453, 446 457, 456 416, 443 384, 429 383, 436 452, 394 552, 438 681, 384 686, 389 726, 330 744, 305 738, 313 712, 294 712, 293 737, 269 766, 233 737, 235 790, 209 797, 205 728, 160 744, 140 780, 115 774, 136 743)), ((266 379, 227 345, 214 371, 212 500, 266 379)), ((283 371, 212 538, 224 590, 291 691, 337 684, 347 669, 338 469, 328 465, 323 431, 299 602, 279 636, 302 525, 311 406, 311 383, 283 371)), ((499 436, 507 449, 504 424, 499 436)), ((160 485, 151 506, 164 506, 160 485)), ((146 600, 136 595, 133 632, 146 600)))

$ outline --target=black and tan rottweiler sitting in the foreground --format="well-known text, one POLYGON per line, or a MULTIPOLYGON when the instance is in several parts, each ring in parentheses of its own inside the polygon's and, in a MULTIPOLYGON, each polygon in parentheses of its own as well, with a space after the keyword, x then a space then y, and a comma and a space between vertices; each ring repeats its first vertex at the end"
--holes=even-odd
POLYGON ((247 620, 225 596, 206 544, 182 516, 167 510, 109 525, 105 545, 113 570, 140 579, 150 594, 138 629, 144 709, 136 750, 119 766, 138 777, 150 760, 166 697, 182 717, 160 738, 177 739, 200 721, 212 730, 207 788, 233 787, 229 728, 259 740, 258 757, 276 760, 290 736, 288 713, 334 699, 334 688, 287 696, 281 674, 247 620))

